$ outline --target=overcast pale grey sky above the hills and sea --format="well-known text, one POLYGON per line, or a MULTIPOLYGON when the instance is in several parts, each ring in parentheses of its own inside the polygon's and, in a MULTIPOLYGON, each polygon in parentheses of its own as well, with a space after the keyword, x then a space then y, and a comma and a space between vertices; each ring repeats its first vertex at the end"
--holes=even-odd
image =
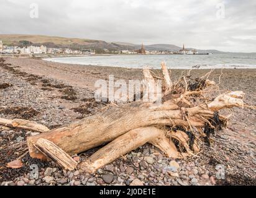
POLYGON ((1 0, 9 33, 256 52, 256 1, 1 0))

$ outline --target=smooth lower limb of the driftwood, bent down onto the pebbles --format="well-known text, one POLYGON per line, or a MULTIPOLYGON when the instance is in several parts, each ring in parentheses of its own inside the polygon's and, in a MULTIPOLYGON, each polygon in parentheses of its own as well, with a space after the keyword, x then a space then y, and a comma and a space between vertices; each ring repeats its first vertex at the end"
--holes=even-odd
POLYGON ((157 145, 157 147, 167 153, 167 155, 177 157, 178 152, 176 148, 165 139, 163 130, 157 129, 156 127, 142 127, 117 137, 117 139, 113 140, 102 149, 99 149, 98 152, 94 153, 88 160, 81 163, 80 169, 87 173, 94 173, 98 168, 111 163, 147 142, 152 142, 152 144, 157 145))

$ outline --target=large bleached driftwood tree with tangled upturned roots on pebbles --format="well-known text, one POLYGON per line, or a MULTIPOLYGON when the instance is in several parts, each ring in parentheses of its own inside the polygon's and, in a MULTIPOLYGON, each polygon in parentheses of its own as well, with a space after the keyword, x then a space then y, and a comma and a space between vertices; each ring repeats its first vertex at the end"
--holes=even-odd
MULTIPOLYGON (((157 86, 155 77, 149 69, 144 70, 144 75, 147 92, 152 92, 157 86)), ((178 82, 171 82, 170 72, 162 63, 162 103, 155 102, 159 97, 156 95, 147 102, 134 101, 112 107, 68 126, 28 137, 30 156, 46 158, 47 153, 38 146, 42 139, 52 142, 67 155, 108 143, 79 165, 81 171, 93 173, 147 142, 171 158, 196 155, 201 137, 209 137, 211 131, 226 126, 229 117, 219 114, 219 110, 244 107, 244 93, 240 91, 222 93, 207 100, 205 93, 209 92, 208 88, 216 87, 208 76, 196 79, 195 84, 185 76, 178 82)))

